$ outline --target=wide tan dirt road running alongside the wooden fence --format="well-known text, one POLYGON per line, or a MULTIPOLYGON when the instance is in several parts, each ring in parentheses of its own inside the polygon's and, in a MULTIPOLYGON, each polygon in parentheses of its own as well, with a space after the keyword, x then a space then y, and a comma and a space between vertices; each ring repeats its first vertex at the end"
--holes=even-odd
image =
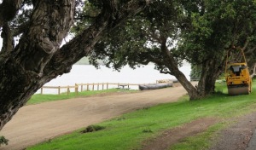
POLYGON ((177 101, 178 97, 185 94, 185 89, 178 86, 22 107, 1 130, 0 135, 9 139, 9 145, 0 147, 0 150, 20 150, 132 110, 177 101))

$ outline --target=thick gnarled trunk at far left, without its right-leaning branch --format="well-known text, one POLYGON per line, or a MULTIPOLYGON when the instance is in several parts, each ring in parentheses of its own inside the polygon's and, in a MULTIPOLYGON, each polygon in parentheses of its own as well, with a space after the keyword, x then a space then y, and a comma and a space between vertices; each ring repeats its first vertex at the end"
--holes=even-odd
POLYGON ((73 22, 73 0, 37 1, 29 31, 0 55, 0 130, 43 84, 44 67, 73 22), (61 9, 60 9, 61 8, 61 9))

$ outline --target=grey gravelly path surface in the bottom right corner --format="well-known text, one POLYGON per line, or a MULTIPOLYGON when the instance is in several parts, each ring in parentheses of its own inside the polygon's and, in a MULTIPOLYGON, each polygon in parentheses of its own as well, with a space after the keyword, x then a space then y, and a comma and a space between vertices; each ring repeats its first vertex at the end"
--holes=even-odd
MULTIPOLYGON (((210 150, 245 150, 256 126, 256 112, 236 118, 230 127, 221 130, 210 150)), ((256 147, 253 148, 254 150, 256 147)))

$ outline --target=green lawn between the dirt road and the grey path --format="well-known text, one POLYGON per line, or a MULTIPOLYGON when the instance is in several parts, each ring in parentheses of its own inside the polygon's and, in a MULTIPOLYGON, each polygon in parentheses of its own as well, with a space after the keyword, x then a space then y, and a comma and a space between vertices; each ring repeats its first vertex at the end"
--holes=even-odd
MULTIPOLYGON (((254 83, 255 85, 255 83, 254 83)), ((224 86, 218 86, 225 90, 224 86)), ((254 88, 254 90, 256 90, 254 88)), ((189 123, 197 118, 218 118, 219 122, 212 125, 206 132, 189 137, 170 147, 171 149, 207 149, 212 137, 218 130, 230 124, 228 118, 236 118, 253 112, 256 107, 256 92, 251 95, 229 96, 218 92, 199 101, 188 101, 188 96, 180 101, 162 104, 156 107, 144 108, 133 113, 127 113, 119 118, 105 121, 98 126, 103 130, 81 133, 75 131, 66 136, 60 136, 46 141, 29 150, 131 150, 140 149, 143 141, 159 136, 164 130, 172 129, 189 123)))

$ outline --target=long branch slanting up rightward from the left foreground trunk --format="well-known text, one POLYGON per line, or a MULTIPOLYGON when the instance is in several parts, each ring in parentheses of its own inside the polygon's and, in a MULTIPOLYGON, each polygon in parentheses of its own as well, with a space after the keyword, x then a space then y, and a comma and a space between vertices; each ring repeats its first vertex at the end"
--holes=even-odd
POLYGON ((96 17, 95 22, 57 51, 45 68, 45 72, 51 78, 69 72, 75 62, 90 54, 94 45, 105 33, 110 33, 131 15, 141 12, 148 5, 148 2, 150 1, 131 0, 129 3, 118 7, 114 0, 103 0, 102 13, 96 17))

